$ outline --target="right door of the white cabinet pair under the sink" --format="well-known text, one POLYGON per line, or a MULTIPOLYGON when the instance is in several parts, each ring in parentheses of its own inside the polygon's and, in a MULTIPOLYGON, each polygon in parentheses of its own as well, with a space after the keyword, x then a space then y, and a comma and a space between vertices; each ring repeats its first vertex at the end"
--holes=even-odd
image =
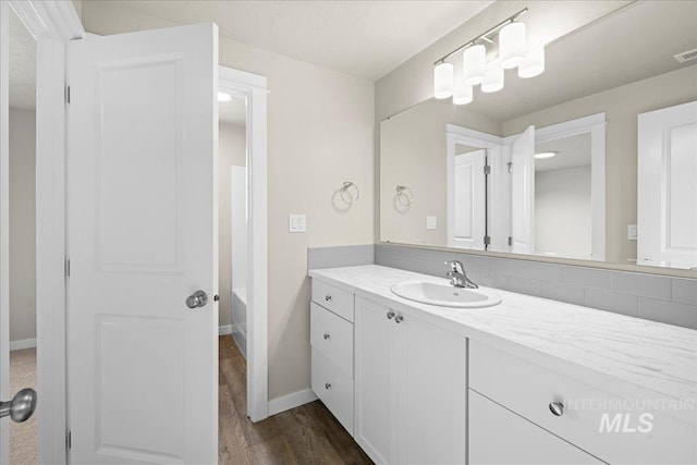
POLYGON ((398 463, 464 464, 467 457, 467 340, 414 316, 396 330, 401 404, 398 463))

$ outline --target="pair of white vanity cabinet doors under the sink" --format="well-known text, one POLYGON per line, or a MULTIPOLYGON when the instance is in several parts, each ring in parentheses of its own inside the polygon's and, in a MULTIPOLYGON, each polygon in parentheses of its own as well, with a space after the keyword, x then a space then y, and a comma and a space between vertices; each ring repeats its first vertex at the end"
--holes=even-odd
POLYGON ((466 463, 466 338, 355 298, 354 438, 377 463, 466 463))

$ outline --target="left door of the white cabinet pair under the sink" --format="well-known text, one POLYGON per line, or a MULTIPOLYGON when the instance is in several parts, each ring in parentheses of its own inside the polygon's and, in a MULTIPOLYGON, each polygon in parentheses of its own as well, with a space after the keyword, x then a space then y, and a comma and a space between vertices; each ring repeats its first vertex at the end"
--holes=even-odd
POLYGON ((355 301, 355 423, 354 438, 376 463, 394 463, 396 428, 392 369, 394 319, 389 309, 355 301))

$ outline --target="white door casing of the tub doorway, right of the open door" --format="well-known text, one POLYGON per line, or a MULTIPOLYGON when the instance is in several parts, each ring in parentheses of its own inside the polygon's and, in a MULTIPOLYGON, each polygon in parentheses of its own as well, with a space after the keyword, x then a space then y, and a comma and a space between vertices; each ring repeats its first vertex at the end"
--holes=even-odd
POLYGON ((267 79, 220 66, 219 89, 247 100, 247 415, 269 416, 268 387, 268 231, 267 79))

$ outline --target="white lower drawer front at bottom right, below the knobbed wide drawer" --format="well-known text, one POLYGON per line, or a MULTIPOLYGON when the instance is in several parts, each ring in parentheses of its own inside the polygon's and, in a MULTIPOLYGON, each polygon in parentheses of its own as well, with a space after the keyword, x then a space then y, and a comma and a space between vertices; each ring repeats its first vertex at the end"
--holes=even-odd
POLYGON ((604 462, 469 390, 468 463, 564 465, 604 462))

